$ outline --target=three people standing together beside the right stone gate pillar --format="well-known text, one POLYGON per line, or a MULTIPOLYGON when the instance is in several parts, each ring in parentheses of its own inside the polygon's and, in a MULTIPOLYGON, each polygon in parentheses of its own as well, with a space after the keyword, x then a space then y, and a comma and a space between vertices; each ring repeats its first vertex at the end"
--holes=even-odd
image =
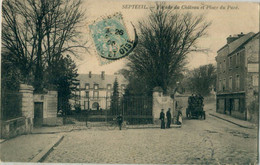
MULTIPOLYGON (((167 118, 166 128, 170 128, 171 127, 171 121, 172 121, 171 108, 168 109, 168 111, 166 113, 166 118, 167 118)), ((164 113, 164 109, 161 110, 159 119, 161 120, 161 129, 165 129, 165 113, 164 113)), ((178 110, 177 124, 178 125, 182 124, 182 112, 181 112, 181 109, 178 110)))

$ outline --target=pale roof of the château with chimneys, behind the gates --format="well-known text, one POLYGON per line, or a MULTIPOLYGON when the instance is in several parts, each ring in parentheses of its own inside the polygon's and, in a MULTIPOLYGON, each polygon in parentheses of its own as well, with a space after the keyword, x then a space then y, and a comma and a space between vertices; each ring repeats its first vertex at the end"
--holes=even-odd
POLYGON ((80 88, 85 88, 85 84, 89 83, 90 88, 93 88, 94 84, 98 84, 99 88, 106 88, 107 84, 111 84, 113 86, 115 79, 117 78, 117 82, 120 85, 128 84, 127 80, 123 75, 106 75, 104 74, 104 79, 102 79, 101 74, 79 74, 77 79, 80 81, 80 88))

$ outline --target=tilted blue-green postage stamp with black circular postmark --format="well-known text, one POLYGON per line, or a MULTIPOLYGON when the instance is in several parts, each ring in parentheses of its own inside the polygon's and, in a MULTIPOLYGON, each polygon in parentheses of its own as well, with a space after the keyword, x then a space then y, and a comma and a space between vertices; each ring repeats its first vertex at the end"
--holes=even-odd
POLYGON ((121 13, 94 22, 89 29, 98 55, 107 60, 129 55, 137 43, 137 38, 135 41, 130 39, 121 13))

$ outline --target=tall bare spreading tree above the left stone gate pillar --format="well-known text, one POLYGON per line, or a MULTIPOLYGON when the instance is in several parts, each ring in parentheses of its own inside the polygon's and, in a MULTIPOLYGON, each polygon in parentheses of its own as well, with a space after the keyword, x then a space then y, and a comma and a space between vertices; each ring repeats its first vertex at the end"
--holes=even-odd
POLYGON ((5 0, 2 4, 2 46, 21 72, 22 82, 40 92, 44 72, 62 59, 62 54, 85 48, 77 40, 84 19, 81 0, 5 0), (76 40, 77 38, 77 40, 76 40))

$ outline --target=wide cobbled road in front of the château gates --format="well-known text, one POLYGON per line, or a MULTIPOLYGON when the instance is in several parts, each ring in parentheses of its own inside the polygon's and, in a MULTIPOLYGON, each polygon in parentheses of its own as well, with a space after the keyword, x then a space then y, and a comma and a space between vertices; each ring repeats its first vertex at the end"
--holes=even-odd
POLYGON ((184 119, 181 128, 66 133, 44 162, 249 164, 256 159, 257 129, 207 115, 206 120, 184 119))

